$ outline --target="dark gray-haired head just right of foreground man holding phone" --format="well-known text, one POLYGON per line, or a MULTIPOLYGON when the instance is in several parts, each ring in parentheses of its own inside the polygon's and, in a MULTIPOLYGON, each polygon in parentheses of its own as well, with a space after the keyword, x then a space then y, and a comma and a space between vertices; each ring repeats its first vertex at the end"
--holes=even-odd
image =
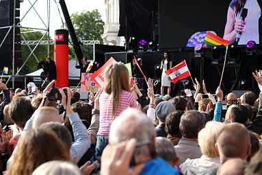
POLYGON ((164 137, 156 138, 156 149, 157 156, 160 156, 165 161, 177 161, 176 150, 174 149, 173 143, 170 139, 164 137))

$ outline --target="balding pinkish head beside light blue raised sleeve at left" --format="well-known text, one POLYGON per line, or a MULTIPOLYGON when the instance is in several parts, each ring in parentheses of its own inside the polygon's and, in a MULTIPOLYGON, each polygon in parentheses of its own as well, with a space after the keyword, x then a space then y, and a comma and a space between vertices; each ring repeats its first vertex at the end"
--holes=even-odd
POLYGON ((62 123, 62 119, 56 108, 44 106, 37 110, 33 121, 33 128, 39 128, 42 124, 51 121, 62 123))

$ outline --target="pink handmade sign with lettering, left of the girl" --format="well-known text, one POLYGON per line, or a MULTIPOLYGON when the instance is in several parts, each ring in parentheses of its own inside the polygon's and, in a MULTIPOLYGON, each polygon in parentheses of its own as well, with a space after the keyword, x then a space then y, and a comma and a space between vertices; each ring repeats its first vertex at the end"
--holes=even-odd
POLYGON ((99 86, 97 86, 92 78, 90 78, 92 73, 81 73, 81 92, 82 93, 96 93, 99 91, 99 86))

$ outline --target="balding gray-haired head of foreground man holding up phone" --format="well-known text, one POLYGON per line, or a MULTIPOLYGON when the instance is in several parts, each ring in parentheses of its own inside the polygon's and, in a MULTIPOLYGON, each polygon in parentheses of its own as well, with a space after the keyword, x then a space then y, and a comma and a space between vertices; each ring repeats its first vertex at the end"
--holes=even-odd
POLYGON ((109 133, 109 142, 116 145, 132 138, 137 142, 153 139, 155 128, 144 113, 135 108, 127 108, 114 119, 109 133))

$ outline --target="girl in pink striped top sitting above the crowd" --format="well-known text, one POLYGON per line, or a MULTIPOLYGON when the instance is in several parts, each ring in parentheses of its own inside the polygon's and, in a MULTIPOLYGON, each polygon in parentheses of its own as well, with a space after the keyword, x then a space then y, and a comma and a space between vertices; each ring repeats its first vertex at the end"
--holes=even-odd
POLYGON ((100 124, 96 141, 96 152, 99 155, 108 143, 113 119, 129 107, 140 109, 131 93, 127 67, 117 62, 110 65, 105 73, 105 84, 99 99, 100 124))

